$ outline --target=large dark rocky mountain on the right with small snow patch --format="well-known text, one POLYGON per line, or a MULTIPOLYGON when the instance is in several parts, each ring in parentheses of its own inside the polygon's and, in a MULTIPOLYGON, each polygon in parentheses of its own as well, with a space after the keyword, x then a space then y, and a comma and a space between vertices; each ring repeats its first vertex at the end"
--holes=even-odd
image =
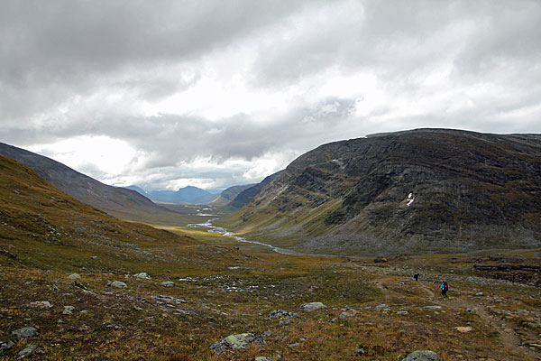
POLYGON ((540 246, 541 135, 418 129, 328 143, 224 225, 342 255, 540 246))

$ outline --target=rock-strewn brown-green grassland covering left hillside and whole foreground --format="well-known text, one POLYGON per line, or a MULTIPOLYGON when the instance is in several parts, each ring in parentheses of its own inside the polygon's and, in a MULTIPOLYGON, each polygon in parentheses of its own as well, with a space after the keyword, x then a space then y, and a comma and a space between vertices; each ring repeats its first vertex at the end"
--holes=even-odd
MULTIPOLYGON (((16 342, 0 356, 2 361, 14 359, 30 344, 43 352, 32 359, 63 360, 253 360, 280 355, 285 360, 368 361, 397 360, 426 348, 445 361, 533 361, 540 355, 518 347, 538 341, 536 329, 525 323, 541 323, 538 288, 473 272, 473 263, 492 262, 486 255, 430 255, 374 264, 372 259, 247 254, 224 246, 231 240, 208 234, 202 240, 214 245, 202 245, 105 216, 5 158, 0 158, 0 198, 0 340, 16 342), (410 282, 414 271, 420 271, 421 282, 410 282), (67 279, 71 272, 80 273, 78 282, 91 292, 67 279), (150 273, 152 280, 137 280, 135 272, 150 273), (445 301, 437 298, 442 277, 452 285, 445 301), (106 287, 114 280, 126 282, 128 289, 106 287), (161 286, 166 280, 177 285, 161 286), (477 292, 484 295, 474 296, 477 292), (187 303, 156 299, 160 295, 187 303), (32 309, 32 301, 50 301, 53 307, 32 309), (298 310, 307 301, 323 301, 328 309, 298 310), (378 308, 381 303, 390 310, 378 308), (75 310, 62 314, 68 305, 75 310), (441 305, 442 310, 423 309, 427 305, 441 305), (464 313, 466 307, 478 314, 464 313), (347 308, 360 312, 339 319, 347 308), (290 324, 269 319, 276 309, 297 311, 299 318, 290 324), (26 326, 39 329, 39 335, 26 340, 11 335, 26 326), (472 331, 460 333, 454 329, 459 326, 472 331), (223 356, 208 349, 216 340, 246 331, 270 331, 266 345, 223 356), (294 343, 298 347, 289 347, 294 343)), ((199 236, 197 232, 192 235, 199 236)), ((538 251, 513 256, 517 259, 505 262, 540 262, 538 251)))

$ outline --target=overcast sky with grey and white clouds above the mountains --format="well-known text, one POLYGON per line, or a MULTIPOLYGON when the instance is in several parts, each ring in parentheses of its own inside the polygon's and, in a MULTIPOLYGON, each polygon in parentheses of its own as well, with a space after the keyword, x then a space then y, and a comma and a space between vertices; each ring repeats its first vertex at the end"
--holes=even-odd
POLYGON ((0 142, 224 189, 323 143, 541 133, 537 0, 0 0, 0 142))

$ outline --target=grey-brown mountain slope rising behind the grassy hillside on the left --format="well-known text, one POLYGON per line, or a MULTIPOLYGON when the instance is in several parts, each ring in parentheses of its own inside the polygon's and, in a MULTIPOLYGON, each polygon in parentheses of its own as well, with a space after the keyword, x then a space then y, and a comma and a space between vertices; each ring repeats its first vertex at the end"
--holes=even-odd
POLYGON ((54 187, 96 208, 118 217, 149 222, 173 222, 176 213, 160 207, 134 190, 108 186, 42 155, 0 143, 0 154, 22 162, 54 187))

